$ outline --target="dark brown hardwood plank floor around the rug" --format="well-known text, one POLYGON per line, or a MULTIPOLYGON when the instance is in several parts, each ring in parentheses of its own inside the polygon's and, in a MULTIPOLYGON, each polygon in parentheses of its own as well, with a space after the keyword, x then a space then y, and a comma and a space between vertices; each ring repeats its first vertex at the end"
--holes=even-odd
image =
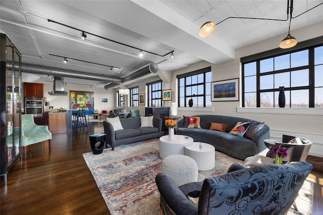
MULTIPOLYGON (((102 123, 52 135, 50 152, 48 142, 32 145, 28 158, 10 170, 8 184, 0 179, 0 214, 110 214, 82 156, 91 151, 93 133, 103 133, 102 123)), ((309 177, 315 182, 312 214, 323 214, 323 172, 309 177)))

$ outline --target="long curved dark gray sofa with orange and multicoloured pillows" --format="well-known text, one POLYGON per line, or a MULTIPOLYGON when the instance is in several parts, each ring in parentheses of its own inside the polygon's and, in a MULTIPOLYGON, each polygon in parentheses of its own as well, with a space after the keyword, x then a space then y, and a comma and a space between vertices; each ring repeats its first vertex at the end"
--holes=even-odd
POLYGON ((263 142, 264 139, 270 139, 270 128, 267 125, 263 125, 263 127, 254 134, 252 137, 253 140, 251 140, 245 137, 245 135, 240 137, 229 134, 229 132, 235 127, 237 122, 252 122, 253 124, 251 125, 259 124, 260 122, 219 115, 195 115, 195 117, 200 117, 201 129, 185 128, 184 119, 181 119, 178 121, 177 134, 190 136, 193 138, 194 142, 209 143, 213 145, 217 151, 224 152, 242 160, 267 148, 263 142), (225 132, 213 131, 209 130, 211 123, 227 124, 228 126, 225 132))

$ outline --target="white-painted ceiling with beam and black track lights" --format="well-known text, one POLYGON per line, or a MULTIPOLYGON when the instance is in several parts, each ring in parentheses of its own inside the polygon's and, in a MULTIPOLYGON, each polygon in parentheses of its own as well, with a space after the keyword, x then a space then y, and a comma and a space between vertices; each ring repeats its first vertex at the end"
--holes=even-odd
MULTIPOLYGON (((295 0, 293 17, 322 2, 295 0)), ((229 61, 234 59, 237 48, 281 34, 287 36, 289 25, 289 21, 228 19, 217 25, 210 36, 200 38, 198 35, 203 23, 219 23, 228 17, 287 20, 287 1, 277 0, 1 0, 0 10, 0 30, 22 53, 22 64, 115 79, 147 67, 151 62, 156 63, 160 70, 171 72, 202 60, 212 64, 229 61), (73 28, 48 22, 48 19, 73 28), (88 32, 85 41, 80 38, 80 30, 88 32), (140 58, 140 49, 152 53, 144 51, 140 58), (170 58, 173 50, 175 58, 170 58), (68 63, 63 63, 64 58, 57 56, 67 58, 68 63), (114 71, 110 71, 111 67, 115 67, 114 71)), ((320 5, 292 19, 291 31, 323 21, 322 11, 323 5, 320 5)), ((297 38, 297 35, 293 36, 297 38)), ((277 41, 277 46, 279 43, 277 41)), ((28 75, 25 74, 24 78, 28 75)), ((52 81, 52 76, 47 77, 46 74, 33 75, 44 77, 45 82, 52 81)), ((156 75, 150 74, 123 84, 156 75)), ((91 87, 104 87, 111 83, 71 77, 65 77, 64 81, 91 87)))

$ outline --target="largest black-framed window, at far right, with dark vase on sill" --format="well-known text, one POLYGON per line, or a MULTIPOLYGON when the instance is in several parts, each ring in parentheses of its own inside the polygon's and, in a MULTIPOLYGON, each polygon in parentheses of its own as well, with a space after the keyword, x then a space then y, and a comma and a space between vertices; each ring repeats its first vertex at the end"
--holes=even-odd
POLYGON ((243 106, 279 108, 279 88, 285 108, 323 107, 323 46, 284 53, 242 64, 243 106))

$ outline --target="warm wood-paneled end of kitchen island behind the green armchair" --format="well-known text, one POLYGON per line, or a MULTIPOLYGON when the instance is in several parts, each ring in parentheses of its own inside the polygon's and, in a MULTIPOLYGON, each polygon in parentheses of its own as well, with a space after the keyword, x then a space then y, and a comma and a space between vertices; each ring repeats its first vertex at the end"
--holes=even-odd
POLYGON ((67 133, 67 113, 49 112, 48 130, 52 134, 67 133))

